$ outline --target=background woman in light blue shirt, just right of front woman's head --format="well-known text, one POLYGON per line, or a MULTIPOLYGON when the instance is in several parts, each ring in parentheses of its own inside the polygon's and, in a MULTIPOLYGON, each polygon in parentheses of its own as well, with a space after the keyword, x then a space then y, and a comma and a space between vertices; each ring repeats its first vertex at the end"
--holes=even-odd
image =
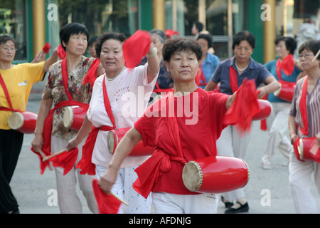
POLYGON ((213 40, 210 34, 200 34, 197 41, 202 47, 203 56, 201 58, 201 65, 198 71, 200 79, 200 88, 205 88, 210 81, 211 76, 215 72, 215 68, 218 67, 220 60, 218 56, 215 56, 208 52, 213 47, 213 40))

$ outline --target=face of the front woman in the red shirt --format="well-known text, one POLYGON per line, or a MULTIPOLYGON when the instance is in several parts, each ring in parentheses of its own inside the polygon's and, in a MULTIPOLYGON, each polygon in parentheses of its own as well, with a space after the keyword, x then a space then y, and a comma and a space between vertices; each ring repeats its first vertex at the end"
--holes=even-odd
POLYGON ((192 51, 176 51, 165 64, 175 83, 194 80, 199 68, 196 53, 192 51))

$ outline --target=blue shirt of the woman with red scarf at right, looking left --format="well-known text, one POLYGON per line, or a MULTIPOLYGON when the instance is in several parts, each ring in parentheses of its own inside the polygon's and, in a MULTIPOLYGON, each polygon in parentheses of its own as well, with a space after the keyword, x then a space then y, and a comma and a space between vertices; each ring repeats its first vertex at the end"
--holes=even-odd
MULTIPOLYGON (((274 61, 270 61, 269 63, 265 64, 265 67, 268 69, 268 71, 270 71, 270 73, 272 73, 272 75, 274 76, 274 78, 277 79, 277 81, 279 81, 279 78, 277 76, 277 60, 274 61)), ((297 68, 297 66, 294 66, 294 71, 292 72, 291 76, 287 76, 284 71, 281 71, 281 80, 282 81, 289 81, 289 82, 296 82, 297 78, 299 76, 299 73, 301 73, 302 71, 300 71, 299 68, 297 68)), ((270 102, 287 102, 285 100, 282 100, 278 97, 276 97, 273 93, 269 93, 268 94, 268 100, 270 102)))

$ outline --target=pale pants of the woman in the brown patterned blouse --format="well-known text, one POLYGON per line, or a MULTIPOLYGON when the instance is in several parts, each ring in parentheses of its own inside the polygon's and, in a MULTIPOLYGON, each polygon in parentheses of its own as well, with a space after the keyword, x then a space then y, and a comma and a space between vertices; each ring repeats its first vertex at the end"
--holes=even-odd
MULTIPOLYGON (((59 138, 52 136, 51 137, 51 152, 58 152, 63 150, 68 144, 69 140, 73 138, 72 133, 69 133, 68 138, 59 138)), ((80 145, 78 145, 79 155, 77 162, 80 160, 82 155, 82 145, 85 143, 83 140, 80 145)), ((77 164, 75 162, 75 164, 77 164)), ((76 170, 73 167, 68 174, 63 175, 62 167, 55 167, 55 178, 57 182, 57 191, 58 191, 58 204, 60 212, 62 214, 78 214, 82 213, 82 204, 77 195, 75 186, 77 185, 77 179, 79 182, 80 190, 85 196, 87 201, 87 206, 89 207, 92 213, 97 213, 97 202, 95 196, 93 195, 92 190, 92 175, 80 175, 80 170, 76 170)))

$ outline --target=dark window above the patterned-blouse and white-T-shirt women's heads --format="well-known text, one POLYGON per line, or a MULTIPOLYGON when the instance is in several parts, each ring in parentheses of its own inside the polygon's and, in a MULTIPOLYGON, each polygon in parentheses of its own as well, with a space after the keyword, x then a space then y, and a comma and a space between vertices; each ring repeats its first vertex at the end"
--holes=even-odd
POLYGON ((60 28, 84 24, 90 36, 118 31, 127 37, 139 28, 138 0, 59 0, 60 28))

